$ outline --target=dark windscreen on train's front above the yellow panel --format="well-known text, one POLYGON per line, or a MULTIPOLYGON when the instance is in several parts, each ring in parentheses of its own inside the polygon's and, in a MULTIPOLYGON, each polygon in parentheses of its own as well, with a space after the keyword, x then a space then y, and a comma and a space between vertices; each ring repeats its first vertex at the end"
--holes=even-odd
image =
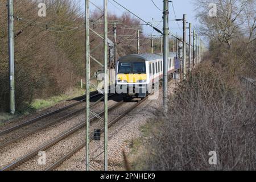
POLYGON ((146 73, 146 65, 143 62, 129 62, 129 63, 120 63, 118 73, 146 73))

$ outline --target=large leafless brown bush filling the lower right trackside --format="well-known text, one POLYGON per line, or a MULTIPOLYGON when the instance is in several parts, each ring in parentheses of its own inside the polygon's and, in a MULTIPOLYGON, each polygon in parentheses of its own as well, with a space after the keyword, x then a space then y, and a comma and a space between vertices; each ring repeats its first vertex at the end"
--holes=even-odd
POLYGON ((234 82, 210 63, 181 82, 168 116, 158 111, 162 125, 147 141, 147 169, 255 170, 255 92, 234 82), (210 151, 217 152, 217 165, 208 163, 210 151))

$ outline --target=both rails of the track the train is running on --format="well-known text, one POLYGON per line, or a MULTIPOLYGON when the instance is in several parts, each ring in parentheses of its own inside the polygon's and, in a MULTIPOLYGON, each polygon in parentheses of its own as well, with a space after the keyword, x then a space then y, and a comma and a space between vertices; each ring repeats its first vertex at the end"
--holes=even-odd
MULTIPOLYGON (((133 110, 135 107, 137 107, 138 105, 142 104, 142 102, 146 101, 147 98, 144 98, 142 101, 137 102, 136 104, 134 104, 133 106, 129 107, 128 109, 126 109, 125 111, 123 111, 121 114, 119 114, 118 117, 115 117, 114 119, 112 119, 109 122, 108 127, 111 127, 114 125, 114 123, 118 122, 121 118, 123 118, 127 113, 129 113, 131 110, 133 110)), ((114 106, 109 108, 109 111, 114 110, 115 108, 117 108, 118 106, 122 105, 124 102, 118 102, 117 104, 115 104, 114 106)), ((104 111, 101 111, 101 113, 98 113, 99 115, 103 115, 104 111)), ((97 120, 99 120, 96 116, 93 116, 91 118, 90 121, 92 122, 96 122, 97 120)), ((72 127, 72 129, 69 129, 67 131, 65 131, 64 133, 62 133, 61 135, 59 135, 58 137, 56 137, 55 139, 43 144, 42 146, 36 148, 36 150, 30 152, 29 154, 23 156, 22 158, 19 158, 18 160, 16 160, 13 163, 10 163, 9 165, 3 167, 1 169, 1 171, 9 171, 12 169, 15 169, 17 167, 19 167, 20 165, 22 165, 23 163, 27 162, 28 160, 30 160, 31 158, 34 158, 36 155, 38 155, 39 151, 43 151, 43 150, 47 150, 48 148, 51 148, 52 146, 55 146, 55 144, 59 143, 61 140, 64 140, 66 138, 68 138, 69 136, 71 136, 72 134, 78 132, 81 129, 84 129, 84 127, 86 126, 85 122, 80 123, 79 125, 72 127)), ((104 128, 101 128, 101 133, 104 132, 104 128)), ((92 134, 91 134, 92 136, 92 134)), ((77 151, 81 150, 82 147, 85 146, 85 141, 82 141, 81 144, 79 144, 76 147, 73 147, 73 149, 71 151, 68 152, 68 154, 63 155, 60 159, 56 160, 56 162, 52 163, 51 166, 48 166, 46 169, 44 170, 52 170, 55 169, 57 166, 59 166, 60 164, 62 164, 65 160, 67 160, 68 158, 70 158, 70 156, 72 156, 73 154, 75 154, 77 151)))

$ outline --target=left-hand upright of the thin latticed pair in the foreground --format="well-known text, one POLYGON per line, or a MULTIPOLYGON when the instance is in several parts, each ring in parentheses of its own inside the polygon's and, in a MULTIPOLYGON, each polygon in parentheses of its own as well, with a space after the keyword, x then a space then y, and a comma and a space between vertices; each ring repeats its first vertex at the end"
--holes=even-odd
POLYGON ((86 48, 86 171, 90 170, 90 33, 89 0, 85 0, 85 48, 86 48))

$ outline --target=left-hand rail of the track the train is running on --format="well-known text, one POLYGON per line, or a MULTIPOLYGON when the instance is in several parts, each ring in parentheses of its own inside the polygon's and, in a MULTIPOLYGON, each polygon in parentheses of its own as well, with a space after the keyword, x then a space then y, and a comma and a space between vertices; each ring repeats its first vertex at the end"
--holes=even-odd
MULTIPOLYGON (((121 104, 123 104, 123 101, 118 102, 118 104, 115 104, 114 106, 110 107, 108 110, 109 111, 113 110, 113 109, 115 109, 116 107, 118 107, 121 104)), ((103 115, 103 114, 104 114, 104 111, 101 111, 101 113, 98 113, 98 115, 103 115)), ((95 121, 96 119, 97 119, 97 117, 94 116, 94 117, 90 118, 90 121, 95 121)), ((54 144, 60 142, 60 140, 63 140, 65 138, 67 138, 69 135, 75 133, 77 130, 82 129, 85 126, 86 126, 86 123, 82 122, 79 125, 72 127, 68 131, 65 131, 63 134, 59 135, 59 137, 57 137, 57 138, 47 142, 46 144, 43 144, 43 146, 40 146, 36 150, 30 152, 29 154, 23 156, 22 158, 19 158, 15 162, 13 162, 13 163, 7 165, 6 167, 2 168, 1 171, 10 171, 11 169, 14 169, 15 167, 19 166, 20 164, 23 164, 27 160, 29 160, 32 157, 36 156, 39 151, 46 150, 47 148, 49 148, 49 147, 53 146, 54 144)))

